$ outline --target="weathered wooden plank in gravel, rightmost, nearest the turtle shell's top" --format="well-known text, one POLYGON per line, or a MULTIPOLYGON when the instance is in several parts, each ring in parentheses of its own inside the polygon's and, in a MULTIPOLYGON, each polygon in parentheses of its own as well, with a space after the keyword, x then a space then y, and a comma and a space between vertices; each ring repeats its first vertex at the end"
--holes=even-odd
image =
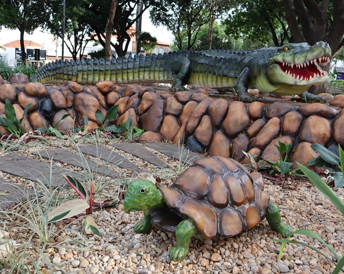
MULTIPOLYGON (((181 152, 181 147, 178 147, 175 144, 169 142, 146 142, 145 145, 179 161, 179 151, 181 152)), ((195 160, 204 158, 203 155, 192 152, 189 149, 183 148, 183 152, 184 151, 185 153, 180 155, 183 163, 188 162, 191 165, 195 160)))

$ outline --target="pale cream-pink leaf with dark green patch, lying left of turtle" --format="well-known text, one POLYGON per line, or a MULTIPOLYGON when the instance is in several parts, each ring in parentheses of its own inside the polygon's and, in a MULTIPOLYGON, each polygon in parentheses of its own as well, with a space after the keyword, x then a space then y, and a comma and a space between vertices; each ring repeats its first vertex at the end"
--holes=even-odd
POLYGON ((48 213, 48 222, 56 222, 63 219, 68 219, 75 215, 81 214, 86 209, 88 209, 90 205, 84 199, 73 199, 69 200, 62 205, 54 208, 48 213))

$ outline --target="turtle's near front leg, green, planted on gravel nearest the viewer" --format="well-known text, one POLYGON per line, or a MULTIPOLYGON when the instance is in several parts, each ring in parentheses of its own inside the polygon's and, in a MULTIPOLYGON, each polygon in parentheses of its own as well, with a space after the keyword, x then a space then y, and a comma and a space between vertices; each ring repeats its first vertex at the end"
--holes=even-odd
POLYGON ((170 258, 172 261, 181 261, 186 257, 189 250, 189 243, 191 237, 197 234, 196 226, 190 219, 182 220, 176 227, 175 237, 177 243, 170 251, 170 258))

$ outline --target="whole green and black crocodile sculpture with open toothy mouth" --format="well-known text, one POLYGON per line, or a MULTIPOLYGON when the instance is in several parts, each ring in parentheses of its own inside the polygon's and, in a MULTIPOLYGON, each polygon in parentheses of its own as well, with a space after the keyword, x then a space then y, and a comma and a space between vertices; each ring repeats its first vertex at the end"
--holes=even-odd
POLYGON ((282 47, 254 50, 177 51, 110 59, 81 59, 46 64, 30 82, 64 84, 172 83, 175 91, 186 84, 215 89, 234 87, 243 102, 257 101, 247 92, 250 86, 260 92, 277 95, 301 95, 305 101, 326 102, 309 94, 312 85, 329 83, 326 71, 319 66, 330 62, 331 49, 320 41, 289 43, 282 47))

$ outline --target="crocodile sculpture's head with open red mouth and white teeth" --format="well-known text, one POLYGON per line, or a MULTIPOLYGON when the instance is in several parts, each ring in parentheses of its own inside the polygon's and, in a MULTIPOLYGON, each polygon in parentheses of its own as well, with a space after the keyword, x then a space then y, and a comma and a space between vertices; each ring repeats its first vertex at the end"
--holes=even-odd
POLYGON ((314 46, 290 43, 279 47, 266 68, 269 81, 279 86, 273 93, 300 94, 311 85, 329 83, 328 73, 319 65, 326 65, 330 59, 331 48, 323 41, 314 46))

